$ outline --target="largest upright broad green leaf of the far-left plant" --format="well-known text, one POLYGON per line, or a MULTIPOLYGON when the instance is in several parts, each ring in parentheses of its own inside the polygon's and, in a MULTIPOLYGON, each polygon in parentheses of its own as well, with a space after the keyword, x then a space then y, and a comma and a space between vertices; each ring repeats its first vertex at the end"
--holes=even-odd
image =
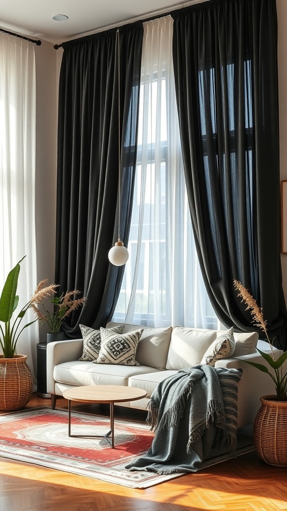
POLYGON ((25 257, 26 255, 9 272, 2 290, 0 298, 0 321, 3 321, 4 323, 10 321, 12 314, 18 305, 19 297, 16 297, 16 291, 20 272, 20 262, 25 257))

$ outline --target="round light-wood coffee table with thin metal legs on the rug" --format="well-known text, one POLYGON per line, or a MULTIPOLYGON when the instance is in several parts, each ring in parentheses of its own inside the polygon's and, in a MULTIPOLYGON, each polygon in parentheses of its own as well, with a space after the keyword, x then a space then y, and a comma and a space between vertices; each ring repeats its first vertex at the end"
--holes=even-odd
POLYGON ((111 447, 114 447, 114 403, 136 401, 146 396, 147 392, 145 390, 122 385, 87 385, 64 390, 63 397, 68 400, 68 435, 106 438, 111 447), (79 401, 80 403, 110 403, 110 430, 105 435, 72 435, 71 401, 79 401))

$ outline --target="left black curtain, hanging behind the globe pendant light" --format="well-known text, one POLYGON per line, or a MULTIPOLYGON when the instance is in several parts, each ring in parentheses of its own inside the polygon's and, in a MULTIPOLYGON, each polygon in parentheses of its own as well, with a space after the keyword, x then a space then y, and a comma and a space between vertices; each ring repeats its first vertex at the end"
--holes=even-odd
POLYGON ((135 172, 142 23, 119 28, 120 130, 116 29, 63 43, 59 85, 55 282, 87 300, 67 319, 99 328, 111 317, 124 267, 108 251, 118 238, 118 132, 121 239, 128 242, 135 172))

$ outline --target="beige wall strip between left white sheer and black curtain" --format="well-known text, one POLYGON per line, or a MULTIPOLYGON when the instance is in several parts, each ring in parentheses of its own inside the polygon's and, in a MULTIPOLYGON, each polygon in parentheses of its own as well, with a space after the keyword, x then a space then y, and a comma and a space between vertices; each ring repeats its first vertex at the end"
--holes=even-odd
MULTIPOLYGON (((59 52, 59 51, 58 51, 59 52)), ((59 54, 52 43, 35 46, 36 55, 36 244, 37 282, 55 278, 57 117, 59 54)), ((46 337, 40 326, 40 342, 46 337)))

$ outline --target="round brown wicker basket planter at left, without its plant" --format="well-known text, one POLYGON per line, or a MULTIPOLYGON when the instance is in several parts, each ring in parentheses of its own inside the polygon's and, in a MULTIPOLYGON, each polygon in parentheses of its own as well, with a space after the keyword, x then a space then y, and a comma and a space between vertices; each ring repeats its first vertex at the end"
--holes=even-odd
POLYGON ((26 355, 0 356, 0 410, 19 410, 33 392, 33 377, 26 355))

